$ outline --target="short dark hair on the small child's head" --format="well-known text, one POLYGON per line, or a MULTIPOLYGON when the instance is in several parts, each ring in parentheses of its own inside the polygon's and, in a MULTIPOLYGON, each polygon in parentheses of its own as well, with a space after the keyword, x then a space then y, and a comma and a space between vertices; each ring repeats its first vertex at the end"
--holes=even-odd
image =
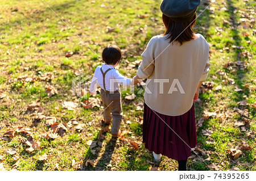
POLYGON ((117 64, 122 58, 122 52, 116 45, 109 45, 102 52, 102 59, 108 65, 117 64))

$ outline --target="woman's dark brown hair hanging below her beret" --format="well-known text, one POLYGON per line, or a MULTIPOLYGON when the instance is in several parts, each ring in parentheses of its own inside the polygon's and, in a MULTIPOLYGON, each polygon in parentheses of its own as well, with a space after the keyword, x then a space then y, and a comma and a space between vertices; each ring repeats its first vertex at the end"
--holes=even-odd
POLYGON ((170 39, 170 43, 179 41, 180 45, 182 45, 186 41, 196 38, 193 32, 193 26, 196 23, 196 14, 189 22, 185 23, 177 23, 164 14, 162 19, 164 26, 166 26, 166 32, 163 35, 168 35, 167 40, 170 39))

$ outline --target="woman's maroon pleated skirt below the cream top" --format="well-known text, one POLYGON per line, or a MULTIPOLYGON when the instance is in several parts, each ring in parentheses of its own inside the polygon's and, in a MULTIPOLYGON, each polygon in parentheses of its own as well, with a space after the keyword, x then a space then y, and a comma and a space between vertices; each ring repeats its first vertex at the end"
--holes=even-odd
POLYGON ((143 143, 145 148, 176 161, 191 156, 196 146, 194 106, 180 116, 167 116, 151 110, 144 103, 143 143))

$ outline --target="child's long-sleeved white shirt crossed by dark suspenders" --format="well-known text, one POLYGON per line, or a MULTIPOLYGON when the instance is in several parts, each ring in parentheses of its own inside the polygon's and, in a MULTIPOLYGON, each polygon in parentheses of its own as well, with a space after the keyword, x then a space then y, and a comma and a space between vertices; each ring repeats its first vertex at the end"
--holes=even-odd
POLYGON ((104 73, 109 68, 111 69, 105 75, 105 87, 107 91, 119 90, 119 85, 123 87, 131 86, 131 79, 120 74, 118 70, 114 69, 113 65, 102 64, 101 66, 97 66, 94 72, 92 83, 90 84, 90 92, 95 93, 98 85, 100 85, 101 89, 104 89, 101 67, 104 73))

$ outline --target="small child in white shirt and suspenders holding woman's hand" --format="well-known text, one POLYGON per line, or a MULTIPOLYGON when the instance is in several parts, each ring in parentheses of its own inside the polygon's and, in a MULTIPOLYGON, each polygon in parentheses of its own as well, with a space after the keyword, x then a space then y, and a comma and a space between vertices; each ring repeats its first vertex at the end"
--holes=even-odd
POLYGON ((115 67, 122 58, 122 52, 116 45, 106 47, 102 52, 105 64, 98 66, 94 72, 90 85, 90 95, 94 95, 97 85, 101 87, 101 99, 104 106, 104 123, 110 124, 112 120, 112 135, 118 137, 121 134, 122 104, 119 85, 130 86, 130 78, 121 75, 115 67))

